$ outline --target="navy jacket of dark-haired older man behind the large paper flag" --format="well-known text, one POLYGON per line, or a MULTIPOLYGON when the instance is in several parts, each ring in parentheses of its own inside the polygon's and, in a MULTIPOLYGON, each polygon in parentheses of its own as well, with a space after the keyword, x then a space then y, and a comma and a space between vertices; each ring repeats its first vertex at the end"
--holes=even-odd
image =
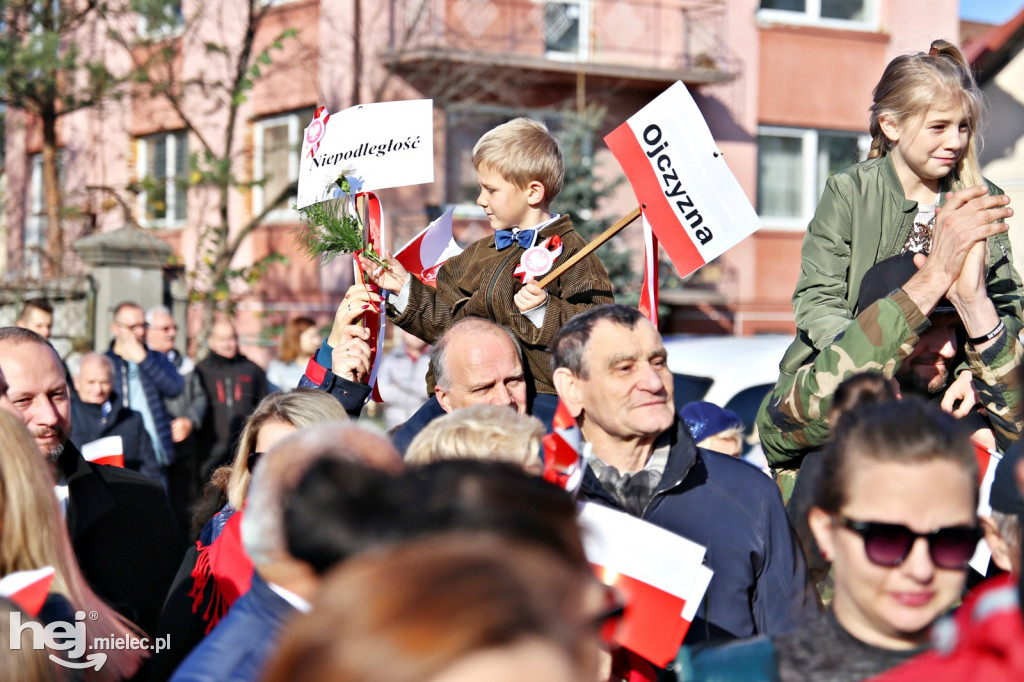
MULTIPOLYGON (((693 444, 681 419, 642 518, 708 548, 715 571, 687 643, 785 634, 818 613, 778 488, 742 460, 693 444)), ((600 456, 600 453, 595 453, 600 456)), ((581 496, 618 508, 588 467, 581 496)))

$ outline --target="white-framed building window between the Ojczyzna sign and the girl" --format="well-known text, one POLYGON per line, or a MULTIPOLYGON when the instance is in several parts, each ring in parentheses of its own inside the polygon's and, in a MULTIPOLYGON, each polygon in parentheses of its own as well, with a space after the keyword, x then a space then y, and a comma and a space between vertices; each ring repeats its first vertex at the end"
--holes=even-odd
POLYGON ((866 157, 867 135, 762 127, 758 134, 758 213, 770 227, 804 228, 825 180, 866 157))

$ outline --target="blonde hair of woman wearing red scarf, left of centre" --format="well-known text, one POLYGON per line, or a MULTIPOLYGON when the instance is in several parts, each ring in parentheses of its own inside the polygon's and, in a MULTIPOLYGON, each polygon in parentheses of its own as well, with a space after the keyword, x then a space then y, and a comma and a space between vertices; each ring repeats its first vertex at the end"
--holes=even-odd
POLYGON ((330 393, 315 388, 297 388, 287 393, 270 393, 246 421, 227 481, 227 502, 242 509, 249 491, 249 456, 256 450, 259 431, 268 422, 284 422, 301 429, 312 424, 348 421, 348 414, 330 393))

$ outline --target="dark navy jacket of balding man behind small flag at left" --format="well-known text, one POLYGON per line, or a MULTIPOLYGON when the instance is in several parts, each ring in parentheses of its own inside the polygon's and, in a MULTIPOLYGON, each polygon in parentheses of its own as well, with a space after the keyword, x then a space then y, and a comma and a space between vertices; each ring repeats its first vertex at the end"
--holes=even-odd
POLYGON ((144 473, 163 482, 163 467, 157 462, 153 439, 145 432, 142 415, 121 407, 117 393, 111 393, 110 414, 103 406, 71 399, 71 439, 80 450, 97 438, 119 435, 124 444, 125 468, 144 473))

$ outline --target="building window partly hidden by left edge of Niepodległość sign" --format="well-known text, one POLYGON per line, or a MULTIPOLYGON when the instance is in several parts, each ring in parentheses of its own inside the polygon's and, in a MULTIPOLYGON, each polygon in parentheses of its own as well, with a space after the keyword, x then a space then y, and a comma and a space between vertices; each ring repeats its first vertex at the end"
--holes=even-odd
MULTIPOLYGON (((299 177, 299 155, 302 152, 302 131, 313 118, 313 110, 304 109, 290 114, 262 119, 253 131, 253 213, 263 212, 299 177)), ((270 221, 297 220, 292 209, 295 195, 266 215, 270 221)))

